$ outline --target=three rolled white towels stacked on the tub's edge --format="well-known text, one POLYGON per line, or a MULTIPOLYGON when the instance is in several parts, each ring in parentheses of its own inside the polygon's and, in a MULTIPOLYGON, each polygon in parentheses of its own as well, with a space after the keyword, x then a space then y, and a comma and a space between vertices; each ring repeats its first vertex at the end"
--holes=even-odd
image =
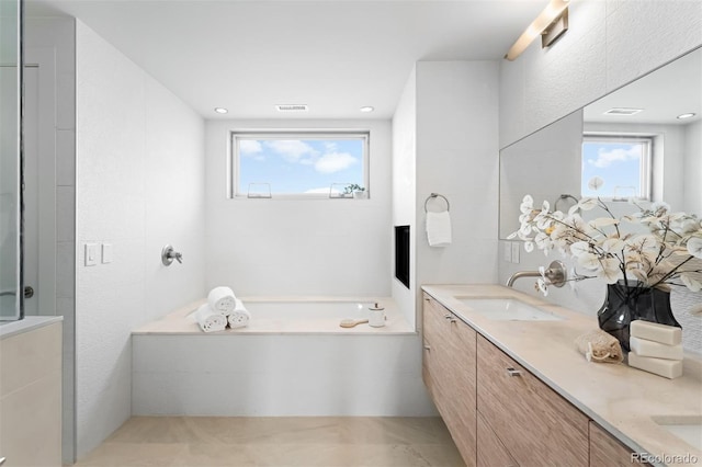
POLYGON ((251 314, 229 287, 215 287, 207 294, 207 301, 195 311, 195 321, 204 332, 244 328, 251 314))

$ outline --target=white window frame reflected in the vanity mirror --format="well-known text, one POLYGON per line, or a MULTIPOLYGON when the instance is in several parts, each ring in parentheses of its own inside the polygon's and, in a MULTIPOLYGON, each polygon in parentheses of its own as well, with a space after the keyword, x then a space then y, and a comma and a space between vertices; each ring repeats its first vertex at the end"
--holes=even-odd
MULTIPOLYGON (((635 195, 636 200, 652 201, 653 200, 653 166, 654 166, 654 150, 656 136, 648 134, 634 134, 634 133, 585 133, 582 135, 582 145, 580 149, 580 163, 584 164, 584 146, 586 143, 609 143, 609 144, 627 144, 627 143, 636 143, 643 144, 644 155, 639 161, 639 170, 638 170, 638 182, 639 182, 639 193, 635 195)), ((582 170, 580 171, 580 196, 585 196, 582 194, 582 170)), ((605 180, 607 182, 607 180, 605 180)), ((599 196, 603 201, 611 202, 625 202, 629 201, 629 197, 623 196, 599 196)))

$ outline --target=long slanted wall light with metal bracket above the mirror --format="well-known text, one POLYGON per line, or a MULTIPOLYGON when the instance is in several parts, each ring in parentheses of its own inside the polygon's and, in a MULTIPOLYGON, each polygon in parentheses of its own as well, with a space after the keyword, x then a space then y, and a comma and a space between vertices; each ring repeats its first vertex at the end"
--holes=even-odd
POLYGON ((545 48, 568 31, 568 0, 551 0, 544 11, 519 36, 505 58, 511 61, 519 57, 539 35, 541 46, 545 48))

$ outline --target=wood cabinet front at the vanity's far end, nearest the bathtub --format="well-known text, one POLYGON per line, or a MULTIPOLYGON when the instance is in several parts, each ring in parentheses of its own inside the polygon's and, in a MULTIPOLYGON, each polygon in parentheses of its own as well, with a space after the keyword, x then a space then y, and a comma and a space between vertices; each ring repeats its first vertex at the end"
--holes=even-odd
POLYGON ((422 377, 467 466, 476 463, 476 335, 424 294, 422 377))

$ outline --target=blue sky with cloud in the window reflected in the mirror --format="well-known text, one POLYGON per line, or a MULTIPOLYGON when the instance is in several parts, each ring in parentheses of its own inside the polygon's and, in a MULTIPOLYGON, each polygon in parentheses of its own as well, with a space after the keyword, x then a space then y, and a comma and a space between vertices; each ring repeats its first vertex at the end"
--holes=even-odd
POLYGON ((639 196, 642 152, 641 143, 582 143, 582 196, 639 196), (598 191, 588 187, 593 176, 604 180, 598 191))

